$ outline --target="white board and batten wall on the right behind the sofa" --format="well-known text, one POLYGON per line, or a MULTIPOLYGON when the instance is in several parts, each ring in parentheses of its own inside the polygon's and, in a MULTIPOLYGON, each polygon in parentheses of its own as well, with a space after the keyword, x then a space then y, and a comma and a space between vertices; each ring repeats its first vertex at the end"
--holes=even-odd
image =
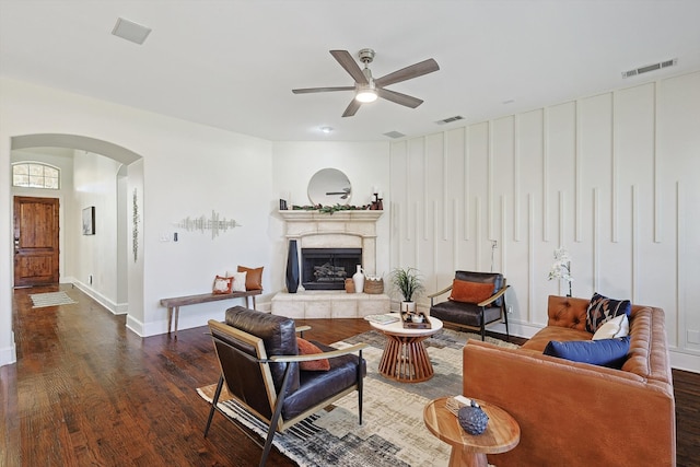
POLYGON ((565 247, 574 296, 664 308, 672 361, 700 371, 700 72, 395 142, 390 190, 392 267, 428 293, 493 267, 528 337, 565 247))

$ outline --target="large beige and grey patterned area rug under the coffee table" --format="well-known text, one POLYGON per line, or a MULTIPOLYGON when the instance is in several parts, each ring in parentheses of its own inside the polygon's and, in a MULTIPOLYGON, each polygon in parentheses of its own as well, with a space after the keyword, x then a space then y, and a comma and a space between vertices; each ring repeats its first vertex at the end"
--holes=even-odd
MULTIPOLYGON (((358 424, 358 394, 337 400, 275 436, 275 446, 302 467, 432 467, 450 463, 450 445, 431 434, 423 423, 423 408, 438 397, 462 392, 462 349, 467 339, 481 339, 470 332, 443 329, 424 343, 435 375, 423 383, 397 383, 377 373, 385 337, 376 331, 353 336, 334 347, 343 348, 358 342, 370 345, 362 351, 368 362, 364 380, 362 425, 358 424)), ((513 343, 488 338, 502 347, 517 348, 513 343)), ((197 389, 211 402, 215 384, 197 389)), ((249 417, 233 400, 221 401, 219 407, 260 436, 267 425, 249 417)), ((264 441, 264 440, 262 440, 264 441)))

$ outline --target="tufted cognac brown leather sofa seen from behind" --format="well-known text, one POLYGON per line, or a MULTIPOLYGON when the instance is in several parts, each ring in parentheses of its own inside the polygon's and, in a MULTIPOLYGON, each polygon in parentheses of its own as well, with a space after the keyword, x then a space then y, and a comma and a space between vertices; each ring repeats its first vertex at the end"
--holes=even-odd
POLYGON ((500 406, 520 444, 489 462, 508 466, 675 466, 675 399, 664 312, 632 305, 621 370, 544 355, 550 340, 591 339, 588 300, 550 296, 547 327, 521 349, 469 340, 463 392, 500 406))

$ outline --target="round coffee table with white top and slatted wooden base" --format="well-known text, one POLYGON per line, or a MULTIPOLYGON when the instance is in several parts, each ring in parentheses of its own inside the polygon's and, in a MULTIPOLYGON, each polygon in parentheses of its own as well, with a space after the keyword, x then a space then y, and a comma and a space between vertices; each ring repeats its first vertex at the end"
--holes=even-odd
POLYGON ((433 365, 423 340, 442 329, 442 322, 433 317, 428 319, 429 329, 405 328, 400 320, 388 325, 370 322, 386 336, 380 374, 401 383, 420 383, 433 377, 433 365))

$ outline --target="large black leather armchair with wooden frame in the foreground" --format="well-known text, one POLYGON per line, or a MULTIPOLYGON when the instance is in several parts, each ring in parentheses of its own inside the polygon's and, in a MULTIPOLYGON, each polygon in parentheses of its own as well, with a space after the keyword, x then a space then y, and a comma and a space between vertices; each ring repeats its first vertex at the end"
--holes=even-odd
MULTIPOLYGON (((283 432, 334 400, 358 392, 359 422, 362 424, 362 381, 366 362, 365 343, 342 350, 313 341, 324 353, 300 355, 294 320, 256 312, 243 306, 226 310, 225 323, 209 320, 209 328, 221 364, 221 376, 209 411, 205 437, 209 432, 223 385, 231 397, 268 424, 260 466, 267 462, 276 431, 283 432), (302 371, 299 362, 328 359, 328 371, 302 371)), ((244 430, 244 433, 246 431, 244 430)), ((247 433, 246 433, 247 434, 247 433)))

